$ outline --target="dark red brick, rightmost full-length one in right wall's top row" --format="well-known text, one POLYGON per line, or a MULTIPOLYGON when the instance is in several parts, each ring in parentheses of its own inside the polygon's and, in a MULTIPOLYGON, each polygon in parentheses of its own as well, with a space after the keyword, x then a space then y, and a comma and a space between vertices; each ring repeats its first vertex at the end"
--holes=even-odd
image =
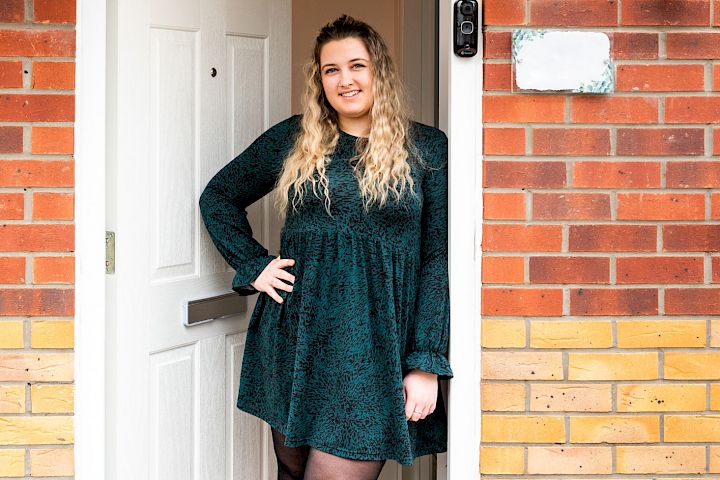
POLYGON ((710 25, 710 0, 623 0, 622 25, 710 25))

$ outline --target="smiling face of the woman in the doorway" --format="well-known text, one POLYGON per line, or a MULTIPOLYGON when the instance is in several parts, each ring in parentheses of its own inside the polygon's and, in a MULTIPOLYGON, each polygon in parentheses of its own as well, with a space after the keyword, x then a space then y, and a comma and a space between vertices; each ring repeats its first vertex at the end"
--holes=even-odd
POLYGON ((374 76, 363 41, 345 38, 323 45, 320 76, 325 97, 337 112, 340 125, 369 130, 374 76))

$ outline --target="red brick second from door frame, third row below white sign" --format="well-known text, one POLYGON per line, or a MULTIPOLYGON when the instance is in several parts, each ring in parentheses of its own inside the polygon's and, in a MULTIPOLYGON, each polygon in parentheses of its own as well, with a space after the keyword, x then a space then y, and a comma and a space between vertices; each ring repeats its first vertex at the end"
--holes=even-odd
POLYGON ((657 188, 660 164, 656 162, 576 162, 576 188, 657 188))

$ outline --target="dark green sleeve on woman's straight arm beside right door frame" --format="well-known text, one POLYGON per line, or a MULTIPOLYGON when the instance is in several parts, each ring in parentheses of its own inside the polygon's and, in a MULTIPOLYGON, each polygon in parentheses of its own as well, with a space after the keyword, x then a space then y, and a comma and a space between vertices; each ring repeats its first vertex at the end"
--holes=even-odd
POLYGON ((414 318, 408 326, 404 369, 453 377, 447 359, 450 332, 448 278, 448 161, 447 137, 439 130, 432 136, 426 162, 431 169, 423 181, 420 272, 414 318))

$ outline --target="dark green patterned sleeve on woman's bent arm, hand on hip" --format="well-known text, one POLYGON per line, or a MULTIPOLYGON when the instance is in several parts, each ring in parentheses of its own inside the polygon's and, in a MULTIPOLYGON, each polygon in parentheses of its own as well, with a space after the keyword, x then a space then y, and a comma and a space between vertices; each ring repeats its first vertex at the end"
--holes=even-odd
POLYGON ((258 292, 250 283, 275 258, 253 237, 246 209, 272 191, 298 123, 296 115, 267 130, 215 174, 200 195, 205 227, 235 269, 232 289, 240 295, 258 292))

